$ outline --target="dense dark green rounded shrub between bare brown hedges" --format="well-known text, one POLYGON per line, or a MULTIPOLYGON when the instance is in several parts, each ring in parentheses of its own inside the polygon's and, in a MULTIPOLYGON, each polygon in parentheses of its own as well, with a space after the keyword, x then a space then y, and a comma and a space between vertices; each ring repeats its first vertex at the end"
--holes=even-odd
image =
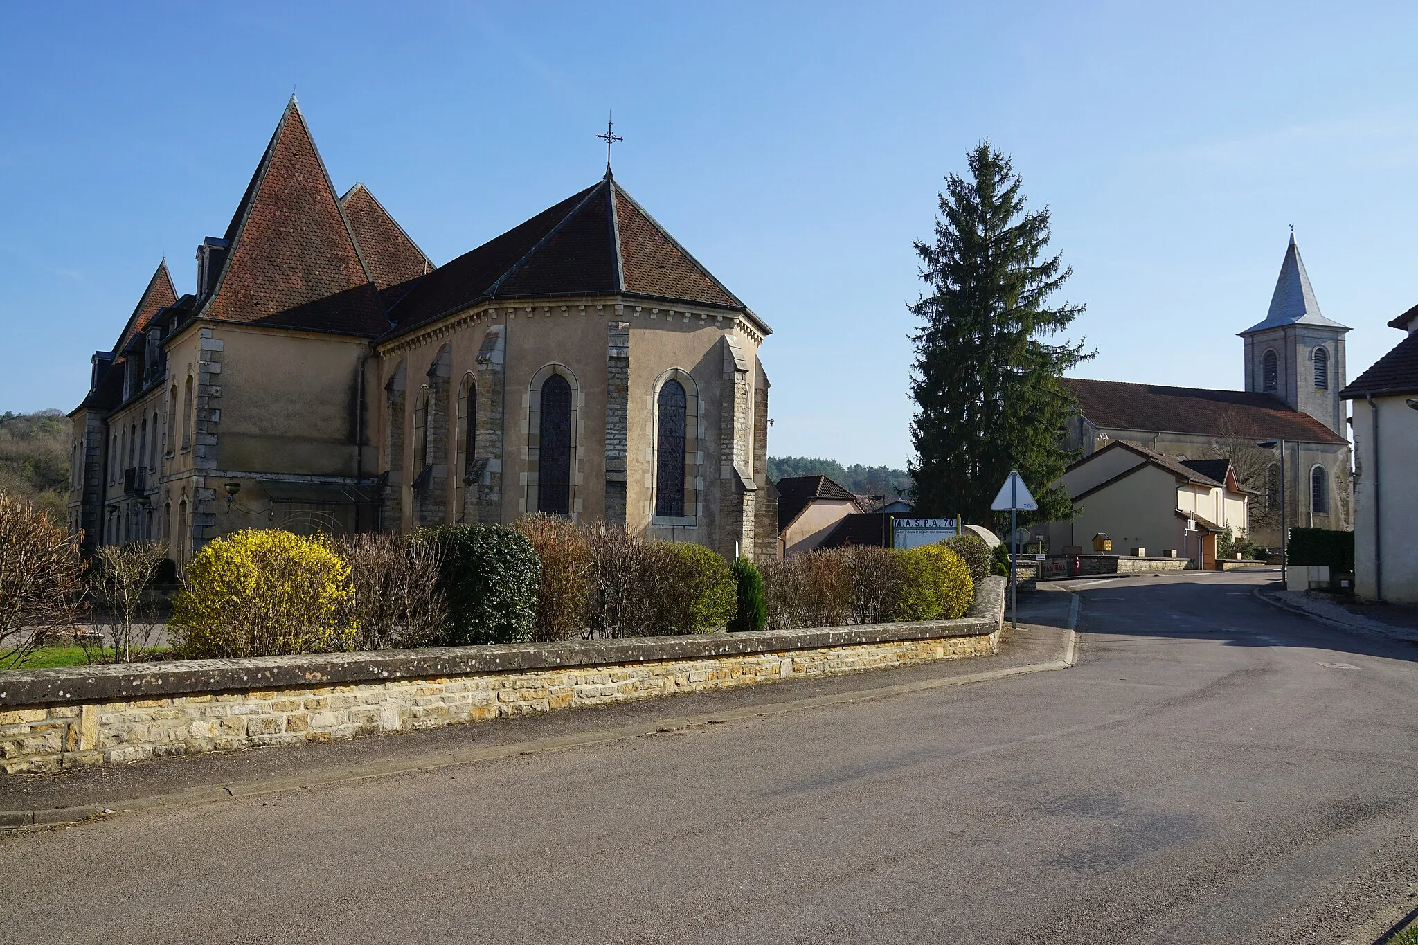
POLYGON ((526 536, 502 526, 438 526, 418 537, 441 551, 450 643, 532 639, 542 562, 526 536))

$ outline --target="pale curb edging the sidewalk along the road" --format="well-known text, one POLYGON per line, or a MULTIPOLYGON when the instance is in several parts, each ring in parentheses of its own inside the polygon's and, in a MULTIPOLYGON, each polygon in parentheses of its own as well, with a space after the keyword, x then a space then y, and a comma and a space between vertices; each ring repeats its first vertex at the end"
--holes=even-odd
POLYGON ((899 683, 896 686, 879 686, 875 689, 835 693, 832 696, 814 696, 810 698, 797 698, 786 703, 770 703, 767 706, 753 706, 747 708, 723 711, 723 713, 703 713, 699 715, 672 715, 666 718, 638 723, 634 725, 621 725, 617 728, 604 728, 598 731, 574 732, 569 735, 556 735, 550 738, 535 738, 530 741, 510 742, 506 745, 491 745, 488 748, 461 748, 452 751, 441 751, 432 755, 423 755, 418 761, 411 761, 407 758, 390 759, 390 761, 373 761, 369 764, 356 765, 353 768, 329 769, 325 772, 291 775, 285 778, 265 778, 258 781, 231 782, 225 785, 208 785, 203 788, 189 788, 186 791, 173 791, 169 793, 152 795, 147 798, 133 798, 129 800, 113 800, 109 803, 92 803, 74 808, 50 808, 43 810, 0 810, 0 827, 10 830, 38 830, 69 823, 81 823, 84 820, 105 817, 115 813, 130 813, 138 810, 152 810, 155 808, 174 808, 182 805, 194 805, 194 803, 213 803, 216 800, 227 800, 231 798, 255 798, 268 793, 278 793, 281 791, 322 788, 337 783, 366 781, 370 778, 383 778, 389 775, 414 774, 420 771, 437 771, 440 768, 467 765, 478 761, 495 761, 499 758, 509 758, 513 755, 537 755, 542 752, 560 751, 564 748, 603 745, 608 742, 624 741, 627 738, 641 738, 645 735, 676 732, 700 725, 719 725, 730 721, 742 721, 746 718, 764 718, 770 715, 783 715, 791 711, 818 708, 824 706, 866 703, 878 698, 886 698, 889 696, 903 696, 908 693, 919 693, 933 689, 949 689, 953 686, 968 686, 971 683, 988 683, 1001 679, 1012 679, 1017 676, 1032 676, 1034 673, 1046 673, 1051 670, 1068 669, 1073 666, 1073 662, 1076 660, 1076 642, 1073 633, 1073 623, 1078 619, 1078 609, 1079 609, 1079 601, 1078 595, 1075 594, 1069 611, 1068 643, 1064 650, 1064 657, 1056 660, 1046 660, 1044 663, 1029 663, 1027 666, 1014 666, 1010 669, 984 670, 980 673, 968 673, 966 676, 951 676, 949 679, 926 680, 919 683, 899 683))

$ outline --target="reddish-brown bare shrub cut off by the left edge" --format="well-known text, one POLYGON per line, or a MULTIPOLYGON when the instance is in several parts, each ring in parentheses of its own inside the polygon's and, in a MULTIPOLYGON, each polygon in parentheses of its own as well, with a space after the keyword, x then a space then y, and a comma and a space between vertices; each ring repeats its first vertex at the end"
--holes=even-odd
POLYGON ((0 493, 0 663, 72 632, 84 598, 78 543, 28 500, 0 493))

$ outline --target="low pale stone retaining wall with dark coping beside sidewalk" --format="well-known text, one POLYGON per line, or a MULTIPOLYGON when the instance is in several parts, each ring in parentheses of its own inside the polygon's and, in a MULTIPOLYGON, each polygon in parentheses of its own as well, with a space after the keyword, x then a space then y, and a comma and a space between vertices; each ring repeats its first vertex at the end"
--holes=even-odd
POLYGON ((1004 579, 959 621, 0 673, 0 772, 54 772, 997 652, 1004 579))

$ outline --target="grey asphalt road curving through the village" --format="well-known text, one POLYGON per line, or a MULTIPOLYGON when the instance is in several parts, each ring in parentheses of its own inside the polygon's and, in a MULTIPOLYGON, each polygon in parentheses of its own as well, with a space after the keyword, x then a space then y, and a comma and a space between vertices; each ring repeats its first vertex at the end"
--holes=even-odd
POLYGON ((1271 577, 1078 582, 1069 670, 3 837, 0 941, 1339 942, 1418 887, 1418 647, 1271 577))

